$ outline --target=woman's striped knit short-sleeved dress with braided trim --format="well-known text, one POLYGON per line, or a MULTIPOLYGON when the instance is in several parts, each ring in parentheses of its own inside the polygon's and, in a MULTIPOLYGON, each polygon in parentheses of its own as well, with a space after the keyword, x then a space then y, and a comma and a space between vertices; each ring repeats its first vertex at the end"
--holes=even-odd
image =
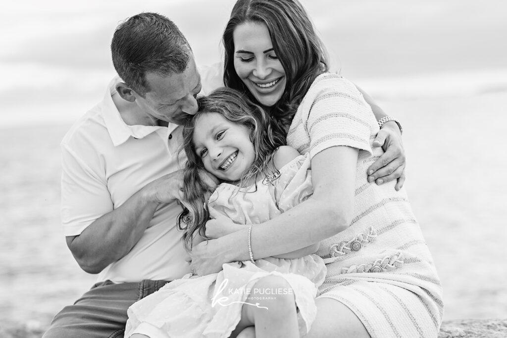
POLYGON ((337 74, 315 79, 298 108, 287 144, 313 158, 338 145, 359 149, 354 216, 345 231, 320 243, 327 277, 318 297, 345 304, 372 337, 436 337, 442 285, 402 189, 368 183, 382 155, 371 143, 378 124, 355 86, 337 74))

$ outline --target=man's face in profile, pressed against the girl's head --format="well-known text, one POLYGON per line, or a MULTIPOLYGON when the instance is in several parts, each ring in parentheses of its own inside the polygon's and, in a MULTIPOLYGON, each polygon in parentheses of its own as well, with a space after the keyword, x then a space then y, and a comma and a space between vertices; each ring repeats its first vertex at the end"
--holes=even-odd
MULTIPOLYGON (((137 105, 151 119, 183 124, 187 115, 197 112, 197 94, 201 91, 201 77, 191 57, 187 69, 180 74, 159 75, 147 73, 151 91, 140 97, 135 93, 137 105)), ((154 121, 154 122, 155 122, 154 121)))

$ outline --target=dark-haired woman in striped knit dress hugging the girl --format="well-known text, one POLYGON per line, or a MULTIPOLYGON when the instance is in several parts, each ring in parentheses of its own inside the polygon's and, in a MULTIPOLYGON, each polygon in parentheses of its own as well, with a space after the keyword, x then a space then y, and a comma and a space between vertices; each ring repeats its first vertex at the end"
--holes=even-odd
POLYGON ((226 85, 265 106, 287 144, 311 157, 314 194, 247 230, 206 224, 192 252, 199 274, 223 263, 291 252, 321 241, 328 274, 308 336, 436 336, 442 288, 403 189, 366 169, 378 125, 357 89, 327 73, 320 41, 293 0, 240 0, 224 32, 226 85), (282 244, 280 244, 282 243, 282 244), (224 249, 226 248, 226 249, 224 249))

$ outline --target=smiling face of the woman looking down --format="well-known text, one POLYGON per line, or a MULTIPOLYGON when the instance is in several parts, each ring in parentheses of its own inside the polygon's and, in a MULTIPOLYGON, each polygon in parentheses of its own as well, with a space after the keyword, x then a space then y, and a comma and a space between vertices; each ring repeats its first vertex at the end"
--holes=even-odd
POLYGON ((245 22, 233 32, 234 68, 252 95, 264 106, 273 106, 285 90, 285 70, 273 50, 268 27, 245 22))

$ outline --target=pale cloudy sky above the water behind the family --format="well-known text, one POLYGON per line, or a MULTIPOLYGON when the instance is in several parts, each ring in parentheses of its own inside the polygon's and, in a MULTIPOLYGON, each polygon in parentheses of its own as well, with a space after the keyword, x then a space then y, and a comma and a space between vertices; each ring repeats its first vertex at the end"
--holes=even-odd
MULTIPOLYGON (((507 88, 501 0, 303 0, 340 71, 374 97, 459 96, 507 88)), ((10 2, 0 12, 0 128, 75 121, 113 76, 110 41, 139 12, 171 18, 198 64, 222 57, 232 0, 10 2), (192 8, 192 11, 189 11, 192 8), (195 10, 198 9, 198 10, 195 10), (22 18, 22 19, 21 19, 22 18)))

